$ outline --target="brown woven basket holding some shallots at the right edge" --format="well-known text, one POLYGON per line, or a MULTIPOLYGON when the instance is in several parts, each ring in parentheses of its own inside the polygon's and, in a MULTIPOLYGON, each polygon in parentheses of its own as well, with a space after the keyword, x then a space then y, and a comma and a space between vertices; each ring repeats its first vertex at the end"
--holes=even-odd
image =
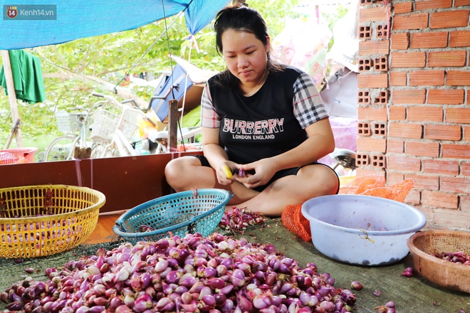
POLYGON ((470 233, 453 230, 427 230, 415 233, 407 241, 414 270, 434 284, 470 292, 470 266, 435 257, 434 252, 470 254, 470 233))

